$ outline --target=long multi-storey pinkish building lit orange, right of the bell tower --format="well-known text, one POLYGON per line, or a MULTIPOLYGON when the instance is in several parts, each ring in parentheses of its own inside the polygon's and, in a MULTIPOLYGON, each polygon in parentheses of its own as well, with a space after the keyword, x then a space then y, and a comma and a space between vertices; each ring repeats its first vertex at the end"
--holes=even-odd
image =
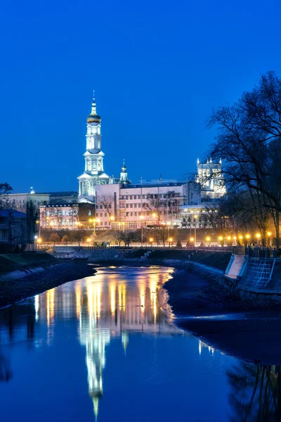
POLYGON ((181 208, 189 203, 200 204, 200 185, 193 181, 159 179, 122 184, 121 180, 118 184, 96 186, 97 227, 139 229, 144 223, 167 221, 181 225, 181 208), (159 200, 157 209, 152 205, 154 200, 159 200))

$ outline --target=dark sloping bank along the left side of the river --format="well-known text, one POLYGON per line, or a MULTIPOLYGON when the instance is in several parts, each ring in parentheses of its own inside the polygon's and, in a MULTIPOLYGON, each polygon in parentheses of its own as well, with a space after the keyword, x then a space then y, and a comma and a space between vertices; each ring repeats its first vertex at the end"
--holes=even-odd
POLYGON ((20 279, 1 280, 0 307, 37 295, 67 281, 92 276, 95 272, 94 266, 86 262, 52 260, 43 271, 20 279))

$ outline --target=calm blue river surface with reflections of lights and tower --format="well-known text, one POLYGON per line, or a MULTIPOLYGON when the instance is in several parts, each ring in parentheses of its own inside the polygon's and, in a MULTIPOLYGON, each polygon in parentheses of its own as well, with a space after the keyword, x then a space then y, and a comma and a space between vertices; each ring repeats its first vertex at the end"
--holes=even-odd
POLYGON ((278 368, 239 362, 174 326, 162 288, 172 272, 102 268, 2 309, 1 420, 280 420, 257 418, 276 414, 278 368))

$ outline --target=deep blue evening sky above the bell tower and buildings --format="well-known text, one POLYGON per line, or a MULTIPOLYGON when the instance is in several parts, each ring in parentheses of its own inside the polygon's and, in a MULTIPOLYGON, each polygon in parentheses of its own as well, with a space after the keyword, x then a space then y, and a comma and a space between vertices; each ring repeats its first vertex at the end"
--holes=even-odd
POLYGON ((96 90, 105 172, 195 170, 204 121, 261 73, 281 75, 280 1, 2 2, 0 182, 77 189, 96 90))

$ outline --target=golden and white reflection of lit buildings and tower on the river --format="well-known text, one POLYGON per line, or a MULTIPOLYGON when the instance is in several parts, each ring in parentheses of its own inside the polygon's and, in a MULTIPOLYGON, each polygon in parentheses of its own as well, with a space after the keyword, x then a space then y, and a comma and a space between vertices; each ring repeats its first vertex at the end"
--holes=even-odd
POLYGON ((32 340, 27 343, 28 347, 34 343, 38 346, 36 328, 45 323, 47 332, 43 341, 51 345, 56 321, 77 320, 79 342, 86 349, 89 396, 97 418, 99 399, 103 397, 105 352, 112 338, 120 338, 126 353, 130 332, 188 335, 171 324, 173 315, 162 285, 172 272, 173 269, 158 267, 145 269, 145 272, 143 269, 128 272, 126 268, 116 271, 111 267, 76 281, 74 286, 67 283, 48 290, 0 312, 1 343, 13 343, 14 334, 15 341, 23 340, 26 332, 26 338, 32 340))

